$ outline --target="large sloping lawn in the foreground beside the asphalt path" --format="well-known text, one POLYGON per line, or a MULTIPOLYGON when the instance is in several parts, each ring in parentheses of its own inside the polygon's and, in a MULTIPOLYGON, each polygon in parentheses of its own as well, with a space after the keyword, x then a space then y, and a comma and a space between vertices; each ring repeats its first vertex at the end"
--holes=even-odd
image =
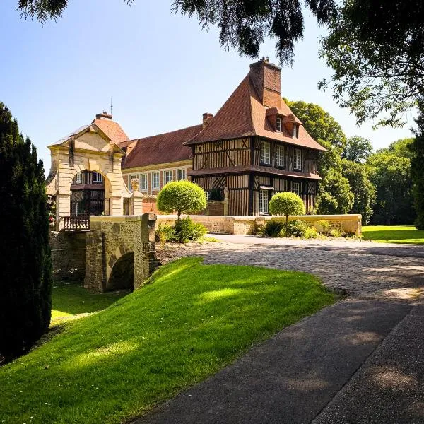
POLYGON ((184 258, 0 368, 0 423, 122 423, 334 302, 314 276, 184 258))

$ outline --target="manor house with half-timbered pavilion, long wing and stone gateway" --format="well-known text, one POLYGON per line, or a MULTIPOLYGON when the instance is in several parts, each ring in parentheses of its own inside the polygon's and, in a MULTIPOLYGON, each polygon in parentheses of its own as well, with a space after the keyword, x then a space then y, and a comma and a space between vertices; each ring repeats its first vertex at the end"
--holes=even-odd
POLYGON ((179 179, 204 188, 205 214, 267 214, 271 196, 286 191, 312 208, 325 151, 281 98, 281 69, 265 58, 199 124, 130 140, 102 113, 49 149, 47 194, 57 229, 90 215, 157 212, 158 192, 179 179))

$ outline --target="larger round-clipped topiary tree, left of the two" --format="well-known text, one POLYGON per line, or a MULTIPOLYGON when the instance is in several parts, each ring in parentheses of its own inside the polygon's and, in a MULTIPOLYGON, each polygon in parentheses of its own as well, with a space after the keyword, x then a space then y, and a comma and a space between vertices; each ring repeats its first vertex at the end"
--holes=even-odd
POLYGON ((196 213, 206 208, 206 193, 194 182, 172 181, 165 184, 156 202, 159 211, 196 213))

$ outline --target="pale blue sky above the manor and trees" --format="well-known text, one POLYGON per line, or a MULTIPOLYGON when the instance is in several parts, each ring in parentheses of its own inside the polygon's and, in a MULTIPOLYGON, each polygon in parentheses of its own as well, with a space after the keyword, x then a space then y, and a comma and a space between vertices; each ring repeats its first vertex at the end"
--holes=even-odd
MULTIPOLYGON (((64 17, 45 25, 20 19, 17 3, 0 4, 0 101, 37 146, 46 172, 47 145, 91 122, 111 97, 114 120, 131 138, 172 131, 216 113, 254 61, 220 47, 216 29, 170 13, 172 0, 70 0, 64 17)), ((321 105, 347 136, 367 137, 374 148, 411 136, 412 118, 404 129, 358 128, 331 92, 317 89, 331 76, 317 57, 319 36, 306 13, 293 69, 282 70, 282 95, 321 105)), ((259 56, 277 63, 272 40, 259 56)))

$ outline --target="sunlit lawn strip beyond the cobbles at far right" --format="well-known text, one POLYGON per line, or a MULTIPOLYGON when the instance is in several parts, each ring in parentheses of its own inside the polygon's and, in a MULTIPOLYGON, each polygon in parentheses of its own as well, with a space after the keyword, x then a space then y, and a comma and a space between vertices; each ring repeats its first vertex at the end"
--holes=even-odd
POLYGON ((363 239, 375 242, 424 245, 424 231, 413 225, 370 225, 363 227, 363 239))

